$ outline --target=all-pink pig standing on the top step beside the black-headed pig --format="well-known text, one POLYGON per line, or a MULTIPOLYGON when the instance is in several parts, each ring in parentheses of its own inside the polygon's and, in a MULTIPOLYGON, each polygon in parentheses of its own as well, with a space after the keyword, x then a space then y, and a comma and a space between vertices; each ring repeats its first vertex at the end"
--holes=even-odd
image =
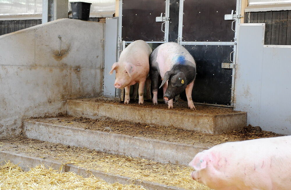
MULTIPOLYGON (((149 57, 152 53, 150 46, 143 40, 130 43, 120 54, 119 61, 114 63, 109 74, 116 70, 115 88, 124 88, 124 103, 129 103, 130 85, 139 83, 139 104, 143 104, 143 89, 146 83, 150 92, 149 57)), ((148 96, 150 93, 147 94, 148 96)), ((147 97, 151 99, 151 97, 147 97)))

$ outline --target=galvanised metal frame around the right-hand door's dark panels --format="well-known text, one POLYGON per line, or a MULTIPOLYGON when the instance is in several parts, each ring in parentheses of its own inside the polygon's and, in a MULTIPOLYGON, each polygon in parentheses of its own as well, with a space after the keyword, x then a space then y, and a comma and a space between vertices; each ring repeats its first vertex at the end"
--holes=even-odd
MULTIPOLYGON (((241 12, 241 5, 242 5, 242 0, 237 0, 236 4, 236 14, 240 15, 241 12)), ((235 68, 237 67, 236 63, 236 48, 237 48, 237 29, 238 29, 238 24, 240 23, 240 17, 235 20, 235 36, 234 36, 234 41, 233 42, 223 42, 223 41, 182 41, 183 36, 182 36, 182 30, 183 30, 183 14, 184 14, 184 0, 180 0, 180 5, 179 5, 179 28, 178 28, 178 43, 180 45, 219 45, 219 46, 226 46, 230 45, 233 46, 233 62, 235 63, 235 68)), ((230 10, 231 12, 231 10, 230 10)), ((230 12, 228 14, 230 14, 230 12)), ((229 29, 231 30, 231 28, 229 29)), ((231 59, 231 58, 230 58, 231 59)), ((194 102, 195 104, 201 104, 201 105, 209 105, 209 106, 221 106, 221 107, 231 107, 233 108, 234 106, 234 86, 235 86, 235 68, 233 68, 232 72, 232 82, 231 82, 231 96, 230 96, 230 105, 220 105, 220 104, 207 104, 207 103, 200 103, 200 102, 194 102)), ((222 69, 222 68, 221 68, 222 69)), ((195 86, 194 86, 195 88, 195 86)))

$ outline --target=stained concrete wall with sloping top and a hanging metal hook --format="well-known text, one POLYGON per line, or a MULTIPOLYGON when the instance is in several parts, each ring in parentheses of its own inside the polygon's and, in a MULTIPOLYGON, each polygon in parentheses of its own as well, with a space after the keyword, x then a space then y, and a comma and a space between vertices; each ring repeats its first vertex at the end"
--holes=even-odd
POLYGON ((0 36, 0 138, 22 118, 65 113, 65 100, 102 95, 104 23, 59 19, 0 36), (61 37, 61 55, 59 55, 61 37))

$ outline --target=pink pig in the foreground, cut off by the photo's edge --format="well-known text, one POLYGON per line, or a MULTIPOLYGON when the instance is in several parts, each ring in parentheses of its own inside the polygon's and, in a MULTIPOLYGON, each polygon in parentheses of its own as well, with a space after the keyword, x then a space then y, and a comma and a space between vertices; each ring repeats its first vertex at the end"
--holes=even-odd
POLYGON ((291 136, 219 144, 189 165, 194 180, 216 190, 290 190, 291 136))

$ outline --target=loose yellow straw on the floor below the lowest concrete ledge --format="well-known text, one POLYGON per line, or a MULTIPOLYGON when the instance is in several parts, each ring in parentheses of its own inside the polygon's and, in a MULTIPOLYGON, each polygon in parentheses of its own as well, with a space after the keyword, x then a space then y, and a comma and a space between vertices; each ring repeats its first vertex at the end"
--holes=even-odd
POLYGON ((52 168, 46 169, 43 165, 24 172, 9 161, 0 167, 0 189, 145 190, 133 184, 110 184, 94 176, 83 178, 72 172, 58 173, 52 168))

